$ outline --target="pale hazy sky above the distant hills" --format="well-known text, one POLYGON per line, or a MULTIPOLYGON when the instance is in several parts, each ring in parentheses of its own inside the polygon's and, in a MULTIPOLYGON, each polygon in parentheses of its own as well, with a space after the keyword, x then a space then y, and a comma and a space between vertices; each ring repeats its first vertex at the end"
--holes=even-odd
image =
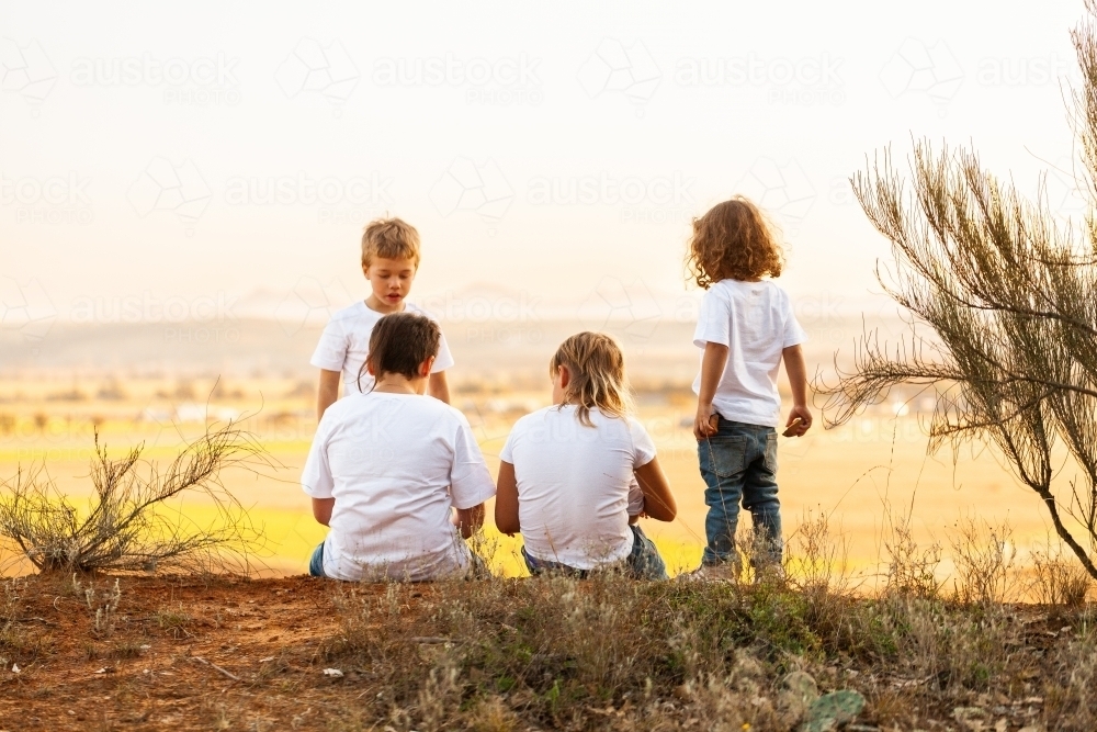
MULTIPOLYGON (((422 234, 412 295, 674 296, 689 218, 736 192, 782 222, 795 296, 857 302, 887 247, 845 179, 927 136, 1034 190, 1071 154, 1083 14, 2 2, 2 307, 265 293, 262 309, 303 281, 358 297, 360 230, 384 212, 422 234)), ((1065 177, 1050 190, 1076 207, 1065 177)))

